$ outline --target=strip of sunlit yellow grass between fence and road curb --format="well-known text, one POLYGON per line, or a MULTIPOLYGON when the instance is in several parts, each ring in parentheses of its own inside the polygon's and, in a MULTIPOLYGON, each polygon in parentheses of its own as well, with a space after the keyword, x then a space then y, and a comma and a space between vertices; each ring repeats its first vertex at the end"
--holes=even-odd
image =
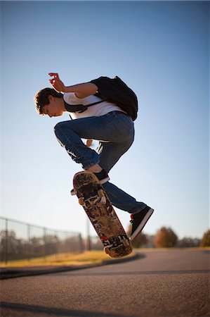
POLYGON ((53 254, 36 259, 22 259, 16 261, 8 261, 5 264, 0 262, 1 268, 18 267, 18 266, 72 266, 84 264, 100 264, 104 260, 111 260, 109 255, 104 251, 85 251, 81 254, 53 254))

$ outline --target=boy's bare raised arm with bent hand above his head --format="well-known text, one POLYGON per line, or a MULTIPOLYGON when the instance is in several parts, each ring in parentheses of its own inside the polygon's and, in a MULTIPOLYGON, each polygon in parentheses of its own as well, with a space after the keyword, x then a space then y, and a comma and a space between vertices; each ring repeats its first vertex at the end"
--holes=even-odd
POLYGON ((60 80, 58 73, 49 73, 52 79, 49 80, 53 89, 57 92, 74 92, 77 98, 85 98, 91 94, 96 94, 98 87, 92 82, 84 82, 83 84, 72 85, 66 87, 60 80))

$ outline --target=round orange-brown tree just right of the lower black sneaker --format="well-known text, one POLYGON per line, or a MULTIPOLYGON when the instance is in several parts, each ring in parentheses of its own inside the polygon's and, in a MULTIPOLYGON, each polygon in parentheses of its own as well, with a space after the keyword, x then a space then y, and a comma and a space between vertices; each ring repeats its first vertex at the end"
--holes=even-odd
POLYGON ((177 240, 178 237, 171 228, 162 227, 155 235, 155 247, 175 247, 177 240))

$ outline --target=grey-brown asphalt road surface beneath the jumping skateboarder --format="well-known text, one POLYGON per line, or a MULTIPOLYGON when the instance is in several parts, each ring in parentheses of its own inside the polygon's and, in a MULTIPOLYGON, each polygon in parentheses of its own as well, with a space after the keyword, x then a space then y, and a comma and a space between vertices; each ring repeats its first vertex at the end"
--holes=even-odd
POLYGON ((140 250, 138 259, 1 281, 1 316, 210 316, 209 251, 140 250))

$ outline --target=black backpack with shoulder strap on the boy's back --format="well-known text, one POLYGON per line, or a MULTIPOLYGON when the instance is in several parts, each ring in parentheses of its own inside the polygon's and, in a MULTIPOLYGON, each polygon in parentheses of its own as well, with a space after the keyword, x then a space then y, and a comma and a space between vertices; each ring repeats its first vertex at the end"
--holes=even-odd
POLYGON ((100 104, 100 102, 103 101, 110 101, 117 104, 117 106, 128 113, 133 121, 136 120, 138 99, 133 90, 129 88, 119 77, 115 76, 114 78, 109 78, 101 76, 95 80, 91 80, 91 82, 98 87, 98 92, 96 92, 95 96, 103 100, 86 106, 82 104, 71 106, 64 101, 67 111, 78 111, 79 113, 82 113, 86 111, 89 106, 100 104))

